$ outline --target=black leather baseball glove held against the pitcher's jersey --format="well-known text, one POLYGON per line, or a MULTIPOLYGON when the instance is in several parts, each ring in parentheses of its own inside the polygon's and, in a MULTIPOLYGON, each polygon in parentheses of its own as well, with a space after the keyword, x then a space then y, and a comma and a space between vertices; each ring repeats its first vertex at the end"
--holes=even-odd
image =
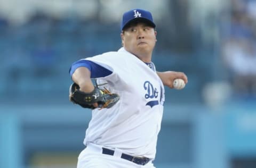
POLYGON ((106 88, 100 89, 98 87, 95 87, 91 93, 84 93, 79 90, 76 83, 72 83, 69 87, 69 100, 84 108, 102 109, 114 106, 119 100, 119 95, 110 93, 106 88), (94 103, 98 103, 98 107, 94 107, 94 103))

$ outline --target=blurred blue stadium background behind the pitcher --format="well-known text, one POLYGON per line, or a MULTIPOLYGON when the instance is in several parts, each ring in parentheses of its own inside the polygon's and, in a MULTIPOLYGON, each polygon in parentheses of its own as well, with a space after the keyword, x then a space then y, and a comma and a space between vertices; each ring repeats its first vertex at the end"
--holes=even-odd
POLYGON ((0 167, 76 167, 90 111, 71 104, 74 61, 121 47, 124 11, 151 11, 166 88, 158 168, 256 167, 256 1, 0 0, 0 167))

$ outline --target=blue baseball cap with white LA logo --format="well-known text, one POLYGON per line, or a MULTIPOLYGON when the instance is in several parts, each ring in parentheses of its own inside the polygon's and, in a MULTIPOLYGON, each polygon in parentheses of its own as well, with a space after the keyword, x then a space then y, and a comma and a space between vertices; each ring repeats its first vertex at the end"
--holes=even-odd
POLYGON ((132 23, 133 21, 146 22, 153 28, 156 27, 156 24, 153 22, 152 14, 149 11, 134 9, 127 11, 123 14, 121 31, 124 29, 125 26, 127 26, 129 23, 132 23))

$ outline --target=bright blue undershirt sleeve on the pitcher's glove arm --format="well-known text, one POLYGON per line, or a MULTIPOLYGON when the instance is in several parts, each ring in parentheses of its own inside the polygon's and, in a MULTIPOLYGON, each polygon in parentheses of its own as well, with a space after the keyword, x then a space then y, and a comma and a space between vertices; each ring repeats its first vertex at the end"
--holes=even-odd
POLYGON ((91 78, 100 78, 100 77, 106 77, 107 75, 110 75, 112 71, 104 68, 103 66, 100 66, 97 63, 94 63, 92 61, 88 60, 78 60, 74 62, 70 69, 69 69, 69 74, 72 77, 73 73, 75 70, 79 67, 86 67, 91 71, 91 78))

